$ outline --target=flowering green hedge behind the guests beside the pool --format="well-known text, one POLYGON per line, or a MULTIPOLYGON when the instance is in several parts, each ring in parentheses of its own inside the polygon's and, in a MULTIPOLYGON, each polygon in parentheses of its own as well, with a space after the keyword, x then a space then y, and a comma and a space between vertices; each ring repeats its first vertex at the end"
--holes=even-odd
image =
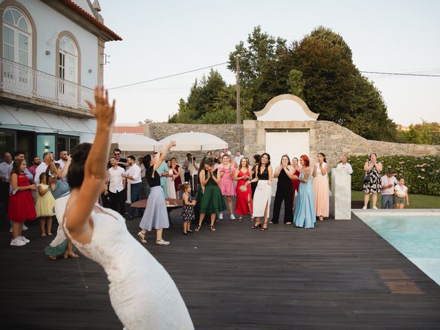
MULTIPOLYGON (((364 184, 364 164, 369 155, 351 156, 348 162, 353 167, 351 189, 362 190, 364 184)), ((405 179, 405 184, 412 194, 440 196, 440 157, 439 156, 382 156, 377 157, 384 168, 380 173, 385 175, 388 168, 395 170, 395 177, 405 179)))

